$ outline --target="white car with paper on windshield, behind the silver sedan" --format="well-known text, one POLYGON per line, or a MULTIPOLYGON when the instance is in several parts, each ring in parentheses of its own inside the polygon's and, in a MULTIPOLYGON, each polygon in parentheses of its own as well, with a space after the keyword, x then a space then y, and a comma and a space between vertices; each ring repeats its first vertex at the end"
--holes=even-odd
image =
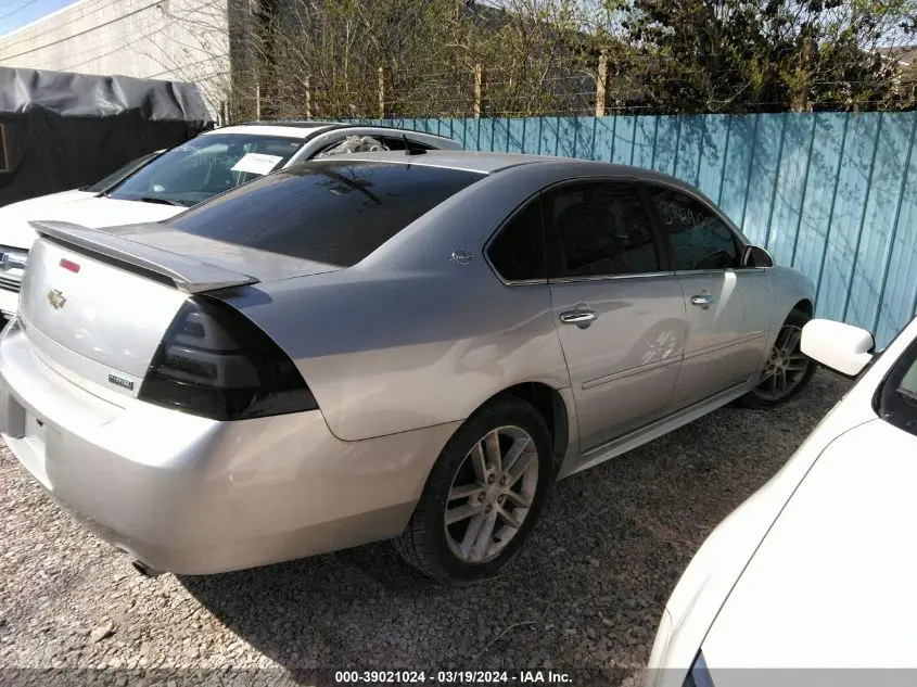
POLYGON ((326 122, 243 124, 206 131, 181 145, 144 155, 90 187, 0 207, 0 313, 10 316, 16 311, 23 269, 36 239, 29 220, 66 220, 92 228, 160 221, 276 169, 377 147, 461 150, 448 138, 389 127, 326 122))

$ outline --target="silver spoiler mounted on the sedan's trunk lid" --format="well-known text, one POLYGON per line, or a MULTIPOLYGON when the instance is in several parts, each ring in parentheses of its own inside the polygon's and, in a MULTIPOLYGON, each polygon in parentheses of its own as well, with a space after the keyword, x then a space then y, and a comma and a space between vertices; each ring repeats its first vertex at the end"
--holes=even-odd
POLYGON ((202 293, 257 283, 255 277, 68 221, 30 221, 42 237, 135 269, 165 277, 179 291, 202 293))

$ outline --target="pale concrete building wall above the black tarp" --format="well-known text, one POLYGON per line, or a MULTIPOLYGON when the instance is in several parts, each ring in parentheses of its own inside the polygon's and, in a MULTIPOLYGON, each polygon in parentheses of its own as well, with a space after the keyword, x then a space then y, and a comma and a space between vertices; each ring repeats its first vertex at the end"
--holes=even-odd
POLYGON ((80 0, 0 36, 0 65, 198 84, 212 114, 230 82, 227 0, 80 0))

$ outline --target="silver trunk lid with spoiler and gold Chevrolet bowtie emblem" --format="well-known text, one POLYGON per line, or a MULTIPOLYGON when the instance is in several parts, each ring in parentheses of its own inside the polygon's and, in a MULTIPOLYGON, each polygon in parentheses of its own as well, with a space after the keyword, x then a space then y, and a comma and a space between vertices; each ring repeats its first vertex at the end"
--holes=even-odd
POLYGON ((334 269, 243 246, 220 252, 218 241, 160 225, 31 225, 40 239, 20 300, 25 334, 49 367, 115 402, 137 396, 189 296, 334 269))

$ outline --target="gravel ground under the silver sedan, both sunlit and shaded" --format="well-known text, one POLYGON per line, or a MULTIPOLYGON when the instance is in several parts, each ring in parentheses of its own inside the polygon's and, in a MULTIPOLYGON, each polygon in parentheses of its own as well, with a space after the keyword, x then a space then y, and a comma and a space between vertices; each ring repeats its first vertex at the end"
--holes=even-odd
MULTIPOLYGON (((168 679, 154 683, 169 686, 202 667, 272 667, 245 675, 300 683, 316 678, 297 670, 316 667, 615 667, 634 682, 704 537, 846 389, 819 371, 782 409, 725 408, 561 482, 511 570, 461 590, 433 586, 385 545, 147 580, 64 516, 3 447, 0 669, 119 669, 105 673, 113 684, 137 684, 125 669, 162 669, 157 679, 168 679)), ((0 684, 4 675, 15 682, 0 670, 0 684)))

